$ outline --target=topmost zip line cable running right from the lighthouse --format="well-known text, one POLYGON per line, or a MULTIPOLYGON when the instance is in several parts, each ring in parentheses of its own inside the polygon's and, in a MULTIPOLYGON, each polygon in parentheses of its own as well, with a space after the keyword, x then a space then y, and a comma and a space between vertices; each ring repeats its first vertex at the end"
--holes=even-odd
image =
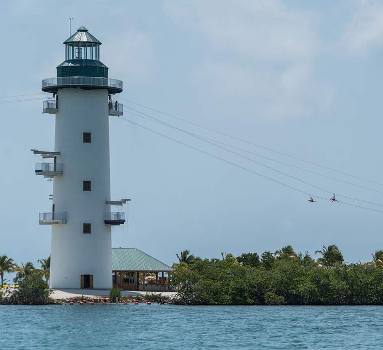
POLYGON ((369 180, 369 179, 366 179, 366 178, 363 178, 363 177, 360 177, 360 176, 351 175, 351 174, 348 174, 348 173, 345 173, 345 172, 342 172, 342 171, 339 171, 339 170, 336 170, 336 169, 333 169, 333 168, 326 167, 326 166, 321 165, 321 164, 318 164, 318 163, 314 163, 314 162, 311 162, 311 161, 308 161, 308 160, 305 160, 305 159, 302 159, 302 158, 298 158, 298 157, 289 155, 289 154, 287 154, 287 153, 283 153, 283 152, 274 150, 274 149, 272 149, 272 148, 265 147, 265 146, 262 146, 262 145, 260 145, 260 144, 257 144, 257 143, 254 143, 254 142, 250 142, 250 141, 247 141, 247 140, 245 140, 245 139, 242 139, 242 138, 239 138, 239 137, 236 137, 236 136, 227 134, 227 133, 225 133, 225 132, 222 132, 222 131, 219 131, 219 130, 216 130, 216 129, 213 129, 213 128, 210 128, 210 127, 207 127, 207 126, 198 124, 198 123, 195 123, 195 122, 193 122, 193 121, 190 121, 190 120, 187 120, 187 119, 183 119, 183 118, 180 118, 180 117, 173 116, 173 115, 171 115, 171 114, 168 114, 168 113, 165 113, 165 112, 156 110, 156 109, 154 109, 154 108, 151 108, 151 107, 148 107, 148 106, 145 106, 145 105, 136 103, 136 102, 133 102, 133 101, 131 101, 131 100, 124 99, 124 98, 122 98, 122 97, 119 97, 119 99, 124 100, 124 101, 127 101, 127 102, 129 102, 129 103, 132 103, 132 104, 134 104, 134 105, 137 105, 137 106, 146 108, 146 109, 151 110, 151 111, 153 111, 153 112, 160 113, 160 114, 162 114, 162 115, 164 115, 164 116, 171 117, 171 118, 175 118, 175 119, 177 119, 177 120, 181 120, 181 121, 184 121, 184 122, 186 122, 186 123, 189 123, 189 124, 192 124, 192 125, 201 127, 201 128, 203 128, 203 129, 205 129, 205 130, 209 130, 209 131, 216 132, 216 133, 218 133, 218 134, 220 134, 220 135, 223 135, 223 136, 226 136, 226 137, 230 137, 230 138, 235 139, 235 140, 237 140, 237 141, 245 142, 245 143, 248 143, 248 144, 250 144, 250 145, 253 145, 253 146, 256 146, 256 147, 260 147, 260 148, 266 149, 266 150, 268 150, 268 151, 271 151, 271 152, 275 152, 275 153, 281 154, 281 155, 283 155, 283 156, 285 156, 285 157, 289 157, 289 158, 292 158, 292 159, 296 159, 296 160, 298 160, 298 161, 300 161, 300 162, 305 162, 305 163, 308 163, 308 164, 311 164, 311 165, 315 165, 315 166, 317 166, 317 167, 321 167, 321 168, 323 168, 323 169, 330 170, 330 171, 332 171, 332 172, 336 172, 336 173, 339 173, 339 174, 347 175, 347 176, 350 176, 350 177, 357 178, 357 179, 359 179, 359 180, 363 180, 363 181, 367 181, 367 182, 374 183, 374 184, 376 184, 376 185, 383 186, 382 183, 375 182, 375 181, 372 181, 372 180, 369 180))

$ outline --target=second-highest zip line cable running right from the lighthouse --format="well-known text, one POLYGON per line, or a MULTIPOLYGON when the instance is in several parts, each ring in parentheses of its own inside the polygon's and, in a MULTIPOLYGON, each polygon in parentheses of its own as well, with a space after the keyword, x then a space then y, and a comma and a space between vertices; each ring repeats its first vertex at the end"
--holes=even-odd
MULTIPOLYGON (((156 121, 158 121, 158 122, 164 123, 164 125, 173 127, 173 128, 175 128, 175 129, 180 130, 180 131, 183 131, 183 132, 187 132, 187 131, 185 131, 185 130, 183 130, 183 129, 180 129, 180 128, 174 126, 174 125, 165 123, 165 122, 162 121, 161 119, 158 119, 158 118, 155 118, 155 117, 153 117, 153 116, 150 116, 150 115, 148 115, 148 114, 146 114, 146 113, 143 113, 143 112, 141 112, 141 111, 139 111, 139 110, 136 110, 136 109, 134 109, 134 108, 131 108, 131 107, 129 107, 129 106, 126 106, 126 105, 124 105, 124 106, 127 107, 128 109, 130 109, 130 110, 132 110, 132 111, 135 111, 135 112, 137 112, 137 113, 140 113, 140 114, 142 114, 142 115, 144 115, 144 116, 146 116, 146 117, 148 117, 148 118, 151 118, 151 119, 154 119, 154 120, 156 120, 156 121)), ((128 112, 128 111, 126 111, 126 112, 127 112, 127 113, 130 113, 130 114, 132 114, 132 115, 135 115, 134 113, 131 113, 131 112, 128 112)), ((141 117, 141 116, 138 116, 138 117, 141 117)), ((198 134, 195 134, 195 133, 193 133, 193 134, 194 134, 194 135, 198 135, 198 134)), ((224 143, 224 142, 220 142, 220 141, 211 139, 211 138, 206 137, 206 136, 202 136, 202 135, 198 135, 198 136, 199 136, 199 137, 202 137, 202 138, 204 138, 204 139, 206 139, 206 140, 209 140, 209 141, 218 143, 218 144, 220 144, 220 145, 227 146, 227 147, 231 147, 231 148, 236 149, 236 150, 238 150, 238 151, 246 152, 246 153, 252 154, 252 155, 254 155, 254 156, 260 157, 260 158, 264 158, 264 159, 267 159, 267 160, 270 160, 270 161, 273 161, 273 162, 276 162, 276 163, 279 163, 279 164, 286 165, 286 166, 291 167, 291 168, 299 169, 299 170, 302 170, 302 171, 304 171, 304 172, 308 172, 308 173, 311 173, 311 174, 315 174, 315 175, 319 175, 319 176, 327 177, 327 178, 332 179, 332 180, 335 180, 335 181, 340 181, 340 182, 347 183, 347 184, 352 185, 352 186, 356 186, 356 187, 363 188, 363 189, 366 189, 366 190, 369 190, 369 191, 373 191, 373 192, 377 192, 377 193, 381 193, 381 194, 383 194, 382 191, 379 191, 379 190, 376 190, 376 189, 373 189, 373 188, 370 188, 370 187, 361 186, 361 185, 358 185, 358 184, 356 184, 356 183, 349 182, 349 181, 346 181, 346 180, 342 180, 342 179, 339 179, 339 178, 336 178, 336 177, 332 177, 332 176, 324 175, 324 174, 321 174, 321 173, 313 172, 313 171, 311 171, 311 170, 308 170, 308 169, 305 169, 305 168, 302 168, 302 167, 298 167, 298 166, 295 166, 295 165, 292 165, 292 164, 289 164, 289 163, 285 163, 285 162, 279 161, 279 160, 274 159, 274 158, 270 158, 270 157, 267 157, 267 156, 263 156, 263 155, 261 155, 261 154, 258 154, 258 153, 254 153, 254 152, 245 150, 245 149, 243 149, 243 148, 238 148, 238 147, 235 147, 235 146, 233 146, 233 145, 230 145, 230 144, 227 144, 227 143, 224 143)))

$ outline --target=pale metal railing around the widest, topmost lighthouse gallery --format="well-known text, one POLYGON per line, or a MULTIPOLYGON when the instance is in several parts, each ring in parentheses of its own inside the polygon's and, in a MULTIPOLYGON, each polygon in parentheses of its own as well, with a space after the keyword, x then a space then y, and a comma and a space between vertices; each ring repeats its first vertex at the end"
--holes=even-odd
POLYGON ((43 89, 50 86, 105 86, 122 89, 122 81, 92 76, 68 76, 48 78, 41 82, 43 89))

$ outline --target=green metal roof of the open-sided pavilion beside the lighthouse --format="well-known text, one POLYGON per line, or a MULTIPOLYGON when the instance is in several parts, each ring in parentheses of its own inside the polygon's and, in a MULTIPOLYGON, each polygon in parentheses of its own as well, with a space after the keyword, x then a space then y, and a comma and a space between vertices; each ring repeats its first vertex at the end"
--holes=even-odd
POLYGON ((112 248, 112 271, 162 272, 173 269, 137 248, 112 248))

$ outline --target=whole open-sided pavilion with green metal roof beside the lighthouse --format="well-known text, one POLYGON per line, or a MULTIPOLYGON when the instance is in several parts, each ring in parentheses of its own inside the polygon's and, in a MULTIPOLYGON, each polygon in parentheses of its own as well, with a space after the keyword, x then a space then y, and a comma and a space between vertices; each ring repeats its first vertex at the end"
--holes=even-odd
POLYGON ((113 288, 126 291, 167 291, 167 275, 173 269, 142 250, 112 248, 111 261, 113 288))

